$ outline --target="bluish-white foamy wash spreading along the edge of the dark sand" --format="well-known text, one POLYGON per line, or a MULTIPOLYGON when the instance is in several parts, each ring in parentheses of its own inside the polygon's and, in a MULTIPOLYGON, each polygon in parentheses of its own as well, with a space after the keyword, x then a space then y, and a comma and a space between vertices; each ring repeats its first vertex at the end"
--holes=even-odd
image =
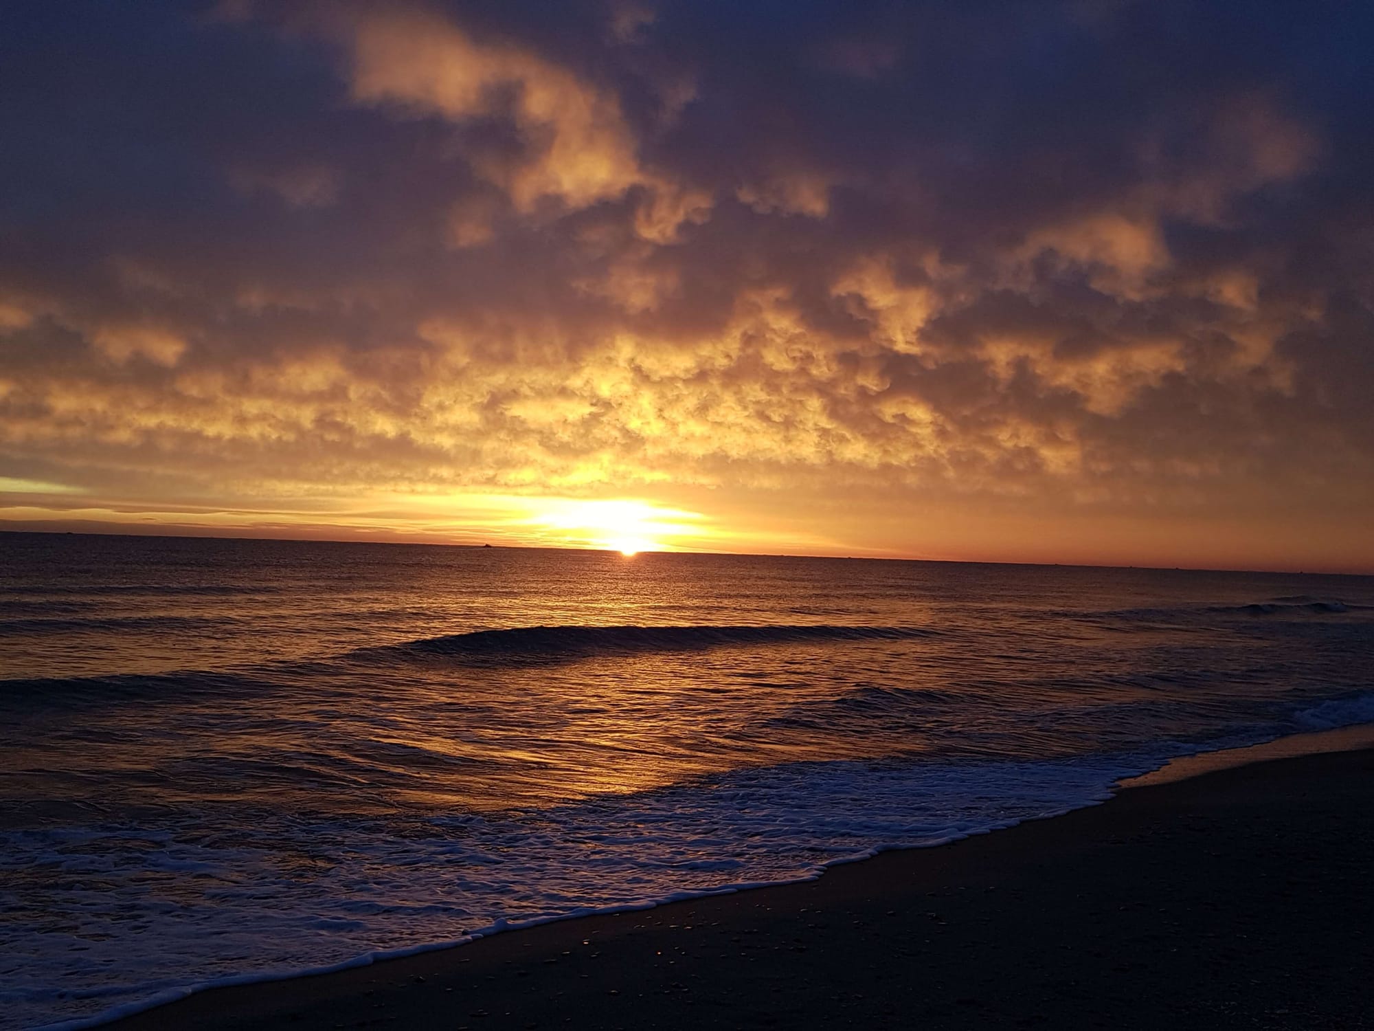
MULTIPOLYGON (((249 905, 217 906, 212 896, 210 905, 190 905, 174 920, 157 918, 157 935, 120 943, 111 935, 96 951, 120 955, 120 980, 92 973, 89 957, 70 950, 44 957, 40 932, 0 986, 0 1006, 7 1008, 0 1024, 18 1013, 23 1026, 52 1021, 38 1031, 77 1031, 213 987, 364 966, 598 913, 813 881, 883 851, 941 845, 1103 801, 1114 781, 1167 757, 785 763, 561 806, 533 823, 470 815, 411 823, 404 841, 396 840, 394 823, 312 822, 311 852, 330 856, 316 874, 326 891, 305 895, 298 876, 269 867, 254 877, 249 905), (378 865, 387 870, 382 884, 371 876, 378 865), (513 881, 530 889, 500 887, 513 881), (440 898, 436 884, 447 885, 440 898), (169 965, 168 955, 176 962, 169 965), (63 982, 60 973, 69 971, 63 982), (71 983, 82 987, 73 991, 71 983)), ((232 884, 254 861, 238 836, 206 843, 201 833, 153 839, 126 828, 92 832, 82 855, 122 848, 131 837, 157 841, 159 848, 150 850, 155 859, 143 862, 157 862, 159 872, 207 873, 232 884)), ((19 847, 25 859, 37 861, 60 848, 60 836, 29 834, 19 847)), ((109 896, 91 903, 82 914, 88 928, 122 929, 118 921, 143 900, 143 888, 120 889, 118 907, 109 896)), ((214 894, 236 898, 232 887, 214 894)))

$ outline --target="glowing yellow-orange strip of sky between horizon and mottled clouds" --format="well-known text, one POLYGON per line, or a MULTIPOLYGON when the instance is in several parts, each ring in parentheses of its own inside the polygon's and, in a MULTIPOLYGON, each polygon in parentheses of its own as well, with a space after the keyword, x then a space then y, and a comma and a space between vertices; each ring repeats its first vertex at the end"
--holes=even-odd
POLYGON ((412 544, 589 548, 625 557, 708 551, 955 562, 1136 565, 1193 569, 1374 572, 1362 533, 1316 539, 1301 522, 1230 528, 1197 518, 1157 525, 1149 513, 988 509, 927 505, 921 518, 892 518, 860 498, 763 498, 752 506, 671 506, 646 498, 525 495, 375 495, 359 500, 280 502, 258 507, 139 506, 95 498, 0 492, 0 529, 154 536, 231 536, 412 544), (1219 542, 1224 542, 1219 543, 1219 542), (1347 558, 1333 562, 1331 550, 1347 558))

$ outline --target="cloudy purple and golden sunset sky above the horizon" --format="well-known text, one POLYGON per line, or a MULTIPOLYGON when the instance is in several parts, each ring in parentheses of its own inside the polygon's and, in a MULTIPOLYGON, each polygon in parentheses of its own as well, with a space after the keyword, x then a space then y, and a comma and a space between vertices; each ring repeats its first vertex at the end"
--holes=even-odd
POLYGON ((1371 38, 7 3, 0 526, 1374 572, 1371 38))

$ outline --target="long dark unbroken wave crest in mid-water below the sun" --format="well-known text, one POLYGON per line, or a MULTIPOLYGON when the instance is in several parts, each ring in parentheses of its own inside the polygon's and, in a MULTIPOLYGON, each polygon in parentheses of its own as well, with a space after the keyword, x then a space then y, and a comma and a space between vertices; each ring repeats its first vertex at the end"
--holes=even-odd
POLYGON ((932 636, 918 627, 513 627, 422 638, 401 645, 365 647, 356 658, 441 657, 482 664, 572 661, 643 652, 695 652, 738 645, 787 645, 809 641, 907 641, 932 636))

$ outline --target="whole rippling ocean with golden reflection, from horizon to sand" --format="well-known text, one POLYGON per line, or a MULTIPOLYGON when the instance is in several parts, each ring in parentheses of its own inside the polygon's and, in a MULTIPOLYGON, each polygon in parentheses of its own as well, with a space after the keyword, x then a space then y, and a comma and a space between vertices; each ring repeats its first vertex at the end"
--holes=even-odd
POLYGON ((0 1028, 1374 720, 1374 579, 0 535, 0 1028))

